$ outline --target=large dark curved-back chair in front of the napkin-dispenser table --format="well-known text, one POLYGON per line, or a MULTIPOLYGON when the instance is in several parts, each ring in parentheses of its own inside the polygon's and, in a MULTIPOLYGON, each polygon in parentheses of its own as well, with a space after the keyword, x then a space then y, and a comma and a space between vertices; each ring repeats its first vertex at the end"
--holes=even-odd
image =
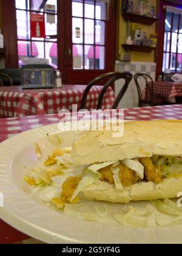
POLYGON ((118 94, 117 98, 115 99, 115 102, 112 106, 112 109, 116 109, 118 107, 118 104, 120 103, 121 99, 123 98, 124 94, 126 93, 126 90, 129 86, 130 81, 132 80, 132 74, 130 73, 120 73, 120 72, 112 72, 112 73, 106 73, 101 76, 96 77, 93 79, 91 82, 86 87, 86 90, 84 91, 83 94, 83 99, 81 101, 81 109, 86 108, 86 103, 87 103, 87 96, 89 94, 90 89, 98 84, 98 82, 101 82, 103 80, 107 82, 104 82, 103 89, 101 90, 101 93, 99 94, 99 99, 98 99, 98 104, 97 104, 97 109, 100 109, 102 107, 103 103, 103 98, 104 94, 106 93, 107 89, 118 79, 124 79, 125 83, 123 87, 120 90, 120 93, 118 94))

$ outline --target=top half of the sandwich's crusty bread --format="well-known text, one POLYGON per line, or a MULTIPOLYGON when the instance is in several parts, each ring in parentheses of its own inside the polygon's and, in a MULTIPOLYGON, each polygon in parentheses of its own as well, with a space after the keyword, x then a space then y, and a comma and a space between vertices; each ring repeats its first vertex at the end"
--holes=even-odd
POLYGON ((73 142, 73 165, 118 161, 152 155, 182 155, 182 121, 132 121, 124 123, 124 135, 112 131, 84 132, 73 142))

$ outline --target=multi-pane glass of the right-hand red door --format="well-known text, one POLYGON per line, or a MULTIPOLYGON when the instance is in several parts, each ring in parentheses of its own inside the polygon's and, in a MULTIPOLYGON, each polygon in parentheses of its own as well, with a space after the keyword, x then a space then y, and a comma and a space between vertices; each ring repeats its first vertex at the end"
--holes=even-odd
POLYGON ((73 69, 105 69, 104 1, 72 1, 73 69))

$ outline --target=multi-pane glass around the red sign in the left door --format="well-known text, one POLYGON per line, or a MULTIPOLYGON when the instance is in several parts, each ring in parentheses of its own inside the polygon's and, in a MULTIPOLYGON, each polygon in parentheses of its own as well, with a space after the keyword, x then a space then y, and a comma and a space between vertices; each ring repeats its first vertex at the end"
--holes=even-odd
POLYGON ((16 0, 19 67, 26 57, 49 59, 50 65, 58 66, 57 0, 16 0), (30 15, 39 13, 45 18, 45 38, 30 35, 30 15))

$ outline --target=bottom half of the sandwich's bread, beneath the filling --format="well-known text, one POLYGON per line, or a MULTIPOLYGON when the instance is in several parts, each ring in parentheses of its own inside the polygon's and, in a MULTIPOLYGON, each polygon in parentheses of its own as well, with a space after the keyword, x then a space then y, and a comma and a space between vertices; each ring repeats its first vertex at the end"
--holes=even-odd
POLYGON ((182 177, 180 179, 164 179, 160 184, 153 182, 136 183, 125 187, 123 191, 116 190, 114 185, 106 182, 90 185, 83 192, 86 199, 128 204, 130 201, 146 201, 155 199, 170 199, 182 192, 182 177))

